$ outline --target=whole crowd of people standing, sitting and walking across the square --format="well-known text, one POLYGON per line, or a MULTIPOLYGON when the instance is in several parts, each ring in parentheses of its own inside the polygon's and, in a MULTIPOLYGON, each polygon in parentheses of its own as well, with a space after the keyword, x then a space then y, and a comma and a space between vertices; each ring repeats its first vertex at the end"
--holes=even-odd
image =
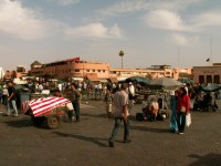
MULTIPOLYGON (((41 93, 45 89, 51 89, 49 82, 29 82, 28 87, 32 93, 41 93)), ((115 124, 112 131, 108 144, 114 147, 114 141, 118 133, 120 123, 124 123, 124 143, 129 143, 129 114, 135 104, 135 95, 138 90, 134 83, 93 83, 93 82, 56 82, 53 83, 51 95, 57 97, 66 97, 72 102, 73 111, 67 112, 69 121, 80 122, 80 105, 84 94, 98 94, 99 100, 105 102, 107 117, 114 117, 115 124)), ((17 90, 13 82, 9 81, 2 84, 1 103, 7 105, 6 115, 18 116, 17 108, 17 90)), ((95 95, 96 98, 96 95, 95 95)), ((141 103, 141 114, 144 121, 165 121, 169 117, 171 133, 183 134, 186 128, 186 117, 190 114, 190 110, 209 111, 209 106, 215 105, 215 93, 204 93, 191 85, 182 86, 176 91, 166 91, 164 96, 144 94, 141 103), (167 101, 168 104, 165 104, 167 101)))

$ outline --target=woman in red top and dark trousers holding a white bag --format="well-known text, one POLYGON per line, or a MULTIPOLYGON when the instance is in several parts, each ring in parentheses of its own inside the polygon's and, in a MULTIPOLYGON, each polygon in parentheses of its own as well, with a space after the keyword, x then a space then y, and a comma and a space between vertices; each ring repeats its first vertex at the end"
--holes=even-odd
POLYGON ((179 134, 183 134, 186 126, 186 115, 190 112, 190 98, 185 87, 180 87, 177 112, 178 131, 179 134))

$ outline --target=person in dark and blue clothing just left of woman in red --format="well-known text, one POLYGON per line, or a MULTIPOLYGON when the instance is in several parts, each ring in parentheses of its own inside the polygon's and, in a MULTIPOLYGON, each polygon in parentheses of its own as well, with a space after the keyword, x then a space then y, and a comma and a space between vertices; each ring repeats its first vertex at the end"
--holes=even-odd
POLYGON ((170 92, 170 108, 171 108, 171 116, 170 116, 170 132, 178 133, 177 126, 177 102, 178 102, 178 91, 170 92))

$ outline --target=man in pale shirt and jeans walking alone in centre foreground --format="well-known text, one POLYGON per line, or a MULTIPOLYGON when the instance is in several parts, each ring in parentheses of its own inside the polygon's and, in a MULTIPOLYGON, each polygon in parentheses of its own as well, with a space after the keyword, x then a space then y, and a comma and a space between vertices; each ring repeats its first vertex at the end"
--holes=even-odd
POLYGON ((123 83, 120 91, 114 94, 115 106, 115 125, 112 135, 108 139, 109 147, 114 147, 114 141, 120 127, 120 122, 124 122, 124 143, 129 143, 129 112, 128 112, 128 93, 127 84, 123 83))

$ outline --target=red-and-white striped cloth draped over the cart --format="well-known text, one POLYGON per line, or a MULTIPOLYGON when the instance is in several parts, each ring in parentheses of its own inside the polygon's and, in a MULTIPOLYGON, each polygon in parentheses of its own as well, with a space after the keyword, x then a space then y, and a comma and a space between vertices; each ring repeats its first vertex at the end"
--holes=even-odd
POLYGON ((31 108, 34 116, 41 116, 42 114, 48 113, 51 110, 62 106, 66 103, 71 103, 71 101, 64 97, 56 96, 41 97, 23 102, 22 112, 25 113, 29 111, 29 108, 31 108))

